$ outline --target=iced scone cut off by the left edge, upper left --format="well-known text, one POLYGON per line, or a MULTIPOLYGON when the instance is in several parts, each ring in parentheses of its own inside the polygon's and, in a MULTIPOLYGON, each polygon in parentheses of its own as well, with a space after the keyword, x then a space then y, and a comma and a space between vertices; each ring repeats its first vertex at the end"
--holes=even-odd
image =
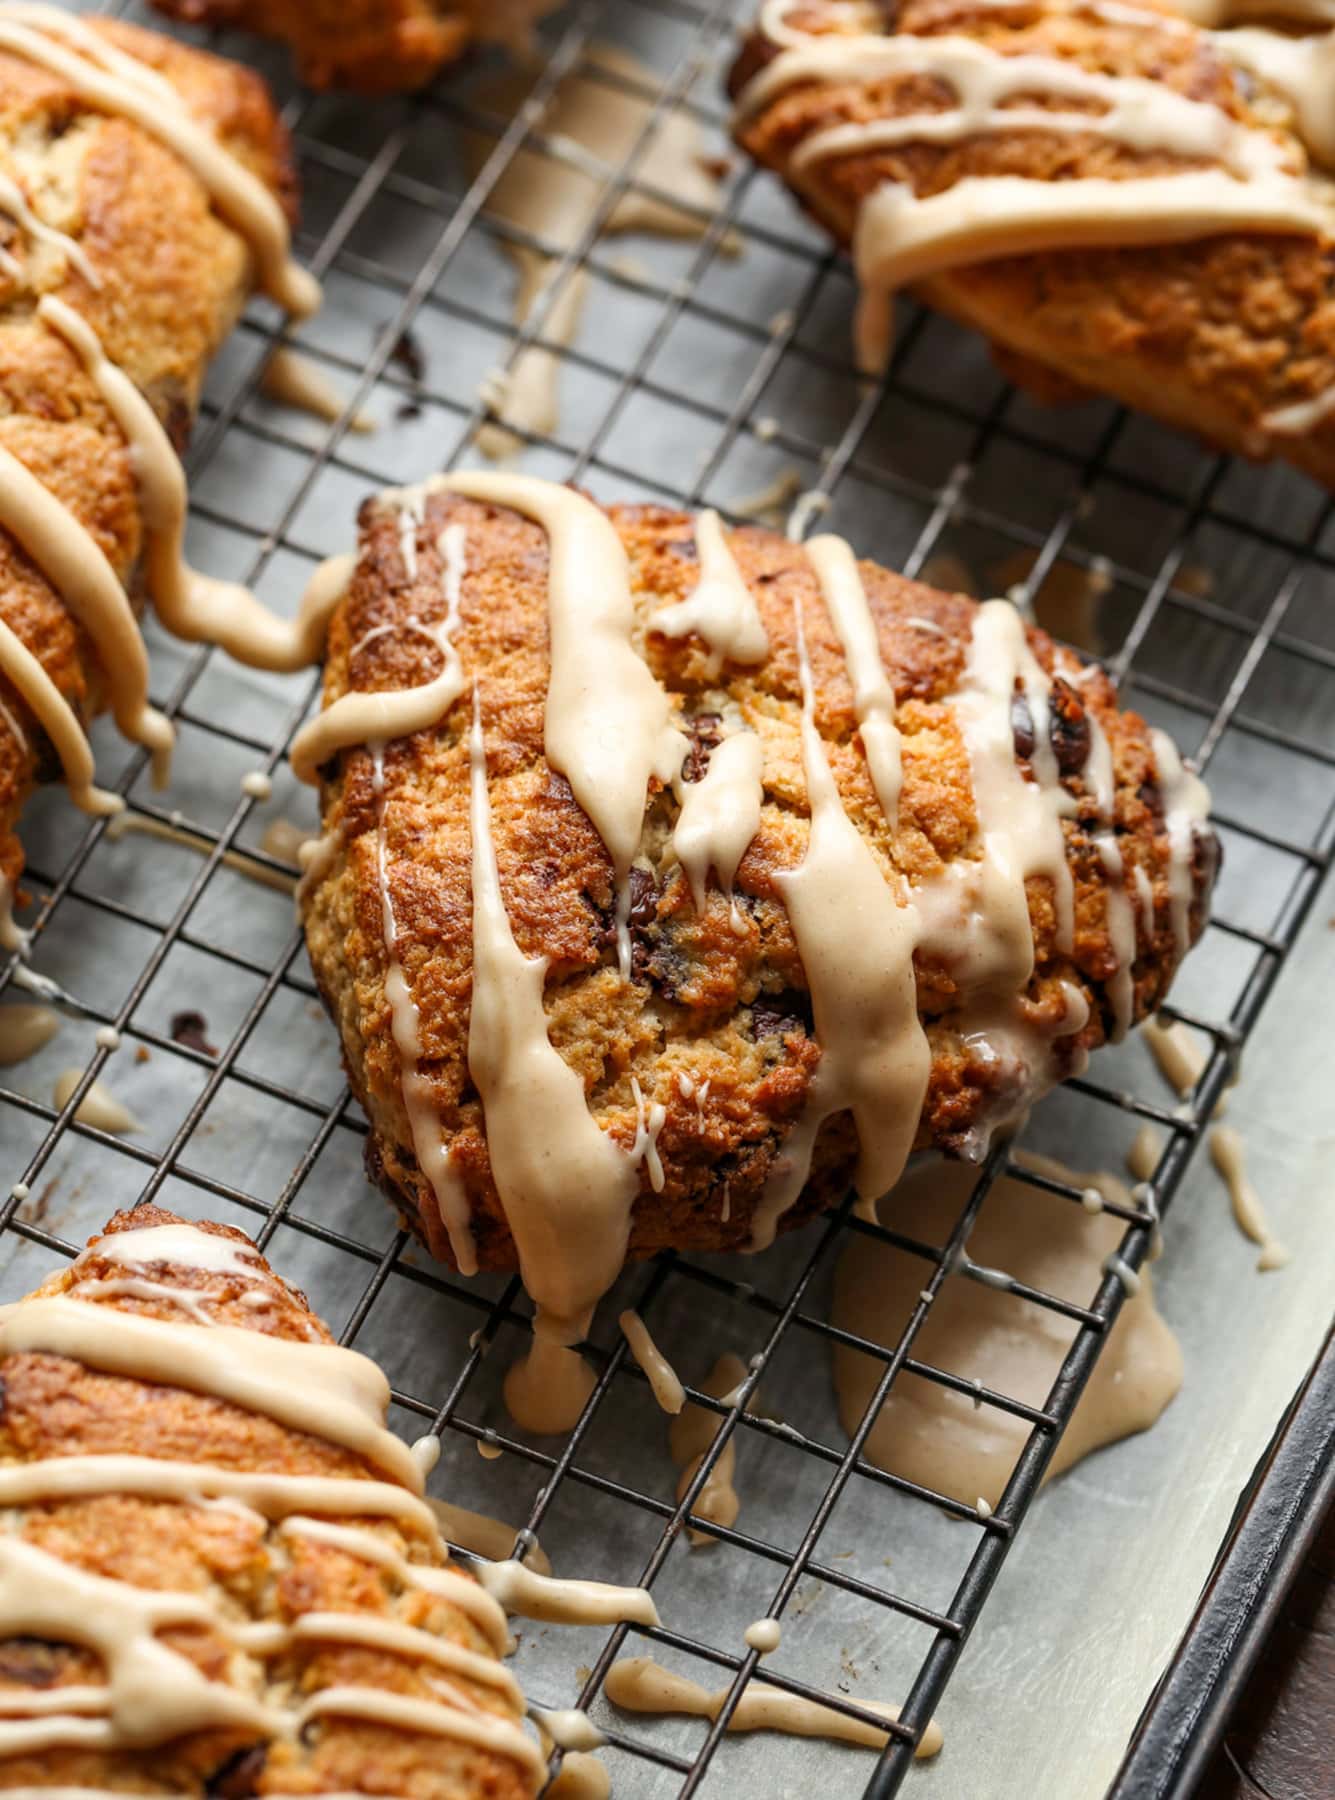
MULTIPOLYGON (((176 452, 248 293, 318 302, 290 257, 293 169, 263 83, 110 20, 0 7, 0 949, 32 785, 88 812, 85 727, 110 707, 158 765, 135 623, 187 637, 257 605, 182 562, 176 452)), ((318 648, 317 648, 318 653, 318 648)))

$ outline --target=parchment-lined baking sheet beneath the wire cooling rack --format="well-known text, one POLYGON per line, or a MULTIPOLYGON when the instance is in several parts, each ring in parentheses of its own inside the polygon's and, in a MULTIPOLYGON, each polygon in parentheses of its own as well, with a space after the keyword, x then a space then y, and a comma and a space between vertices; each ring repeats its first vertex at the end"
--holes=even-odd
MULTIPOLYGON (((689 54, 698 27, 691 7, 626 4, 588 13, 599 36, 635 49, 662 76, 689 54)), ((570 18, 549 27, 551 41, 583 29, 570 18)), ((245 54, 281 70, 281 59, 254 45, 245 45, 245 54)), ((721 61, 725 56, 716 54, 691 90, 712 117, 721 61)), ((486 68, 479 79, 484 76, 486 68)), ((466 95, 471 79, 459 76, 450 90, 466 95)), ((306 171, 308 248, 336 220, 358 167, 378 146, 396 144, 392 167, 405 180, 403 193, 381 193, 354 220, 326 286, 326 308, 300 331, 300 342, 351 389, 351 371, 394 317, 403 288, 448 220, 448 196, 462 193, 466 175, 452 128, 432 106, 331 97, 295 101, 293 117, 306 148, 318 153, 315 162, 308 157, 306 171), (414 182, 432 184, 446 198, 435 211, 405 198, 416 193, 414 182)), ((702 475, 702 499, 721 506, 788 468, 804 484, 815 479, 820 446, 838 441, 860 398, 853 378, 835 365, 844 351, 847 274, 833 261, 811 263, 817 234, 795 220, 770 182, 743 171, 732 180, 741 189, 741 257, 720 257, 700 270, 691 245, 635 239, 617 250, 633 252, 651 272, 648 281, 628 284, 623 275, 594 274, 576 342, 579 360, 567 360, 563 369, 561 445, 534 448, 525 468, 565 475, 570 450, 594 445, 597 454, 581 479, 599 497, 664 499, 689 491, 702 475), (653 347, 662 295, 685 277, 693 308, 653 347), (770 322, 792 311, 799 315, 795 347, 775 356, 770 322), (804 358, 802 346, 815 355, 804 358), (646 356, 648 383, 628 387, 628 371, 646 356), (754 385, 748 421, 777 419, 777 437, 768 428, 756 436, 729 427, 729 396, 747 382, 754 385), (610 416, 617 396, 619 410, 610 416)), ((356 502, 369 490, 419 477, 455 452, 477 380, 504 355, 509 293, 502 248, 473 229, 414 322, 432 398, 416 418, 398 419, 401 376, 399 385, 394 374, 378 382, 371 410, 385 428, 371 439, 347 439, 313 481, 308 452, 326 437, 317 421, 254 398, 243 401, 239 423, 221 443, 205 421, 202 441, 212 448, 193 488, 193 558, 237 576, 259 560, 261 594, 291 610, 311 558, 349 544, 356 502)), ((225 349, 209 382, 214 410, 232 401, 263 355, 261 326, 270 319, 266 308, 255 308, 252 324, 225 349)), ((1090 405, 1049 414, 1011 398, 1004 403, 1006 428, 981 432, 1000 382, 979 344, 937 320, 910 326, 903 342, 896 391, 838 482, 826 522, 849 533, 860 549, 901 563, 916 545, 925 547, 921 533, 941 484, 970 461, 963 502, 934 547, 986 576, 1042 542, 1063 517, 1078 490, 1080 459, 1092 454, 1112 412, 1090 405)), ((1071 527, 1071 545, 1081 556, 1110 558, 1108 587, 1098 605, 1108 648, 1135 617, 1144 585, 1182 531, 1207 470, 1204 452, 1144 421, 1126 423, 1098 466, 1071 527), (1144 491, 1146 475, 1153 491, 1144 491)), ((1191 545, 1193 563, 1211 578, 1214 610, 1202 617, 1164 607, 1126 688, 1128 698, 1178 731, 1187 749, 1202 731, 1200 707, 1213 707, 1227 693, 1247 655, 1250 628, 1288 567, 1285 545, 1256 538, 1250 527, 1301 538, 1317 517, 1315 491, 1283 472, 1240 472, 1216 491, 1213 517, 1191 545), (1196 709, 1173 706, 1169 689, 1193 697, 1196 709)), ((1313 574, 1290 608, 1286 623, 1303 650, 1335 650, 1328 587, 1328 576, 1313 574)), ((166 801, 153 796, 140 776, 131 797, 175 806, 209 832, 223 830, 243 805, 241 776, 286 738, 313 684, 308 677, 239 671, 220 655, 200 662, 155 626, 149 641, 155 697, 175 693, 182 680, 191 686, 171 794, 166 801)), ((1297 653, 1267 652, 1247 689, 1247 715, 1263 725, 1301 729, 1319 747, 1335 749, 1333 686, 1328 670, 1313 670, 1297 653)), ((104 722, 95 747, 101 779, 130 765, 128 747, 104 722)), ((1317 758, 1297 758, 1229 729, 1209 778, 1220 814, 1324 848, 1319 832, 1326 828, 1333 783, 1330 767, 1317 758)), ((259 842, 279 815, 302 826, 315 823, 311 796, 295 788, 286 765, 275 770, 273 799, 245 808, 237 842, 259 842)), ((70 812, 61 792, 40 796, 23 832, 32 868, 59 875, 86 833, 86 821, 70 812)), ((1225 830, 1223 839, 1220 916, 1261 932, 1277 929, 1295 859, 1240 832, 1225 830)), ((291 907, 282 895, 218 869, 182 925, 176 913, 198 873, 198 855, 175 844, 101 837, 43 931, 36 967, 99 1017, 117 1017, 142 985, 126 1042, 108 1060, 104 1078, 144 1129, 122 1145, 65 1132, 20 1217, 77 1244, 112 1210, 133 1204, 155 1179, 157 1157, 171 1152, 175 1172, 155 1197, 191 1217, 216 1217, 252 1231, 263 1210, 277 1204, 268 1244, 275 1265, 308 1289, 336 1330, 356 1323, 356 1345, 381 1359, 398 1390, 441 1406, 468 1364, 470 1334, 488 1321, 488 1307, 506 1283, 452 1283, 441 1296, 412 1280, 421 1253, 407 1249, 360 1316, 367 1282, 394 1249, 394 1220, 360 1172, 362 1125, 345 1098, 335 1039, 293 938, 291 907), (160 967, 140 983, 155 956, 160 967), (273 979, 277 968, 284 974, 273 979), (205 1015, 209 1037, 223 1051, 221 1073, 164 1042, 182 1010, 205 1015), (148 1060, 137 1060, 137 1042, 148 1048, 148 1060), (293 1170, 313 1145, 318 1154, 293 1188, 293 1170), (207 1186, 221 1186, 236 1199, 207 1186)), ((40 893, 41 880, 32 887, 40 893)), ((916 1766, 909 1791, 950 1800, 1067 1800, 1103 1791, 1189 1615, 1238 1490, 1317 1348, 1335 1292, 1335 1139, 1324 1057, 1335 1012, 1326 929, 1331 909, 1335 896, 1317 902, 1231 1103, 1232 1123, 1247 1134, 1256 1184, 1294 1262, 1276 1274, 1254 1273, 1254 1247, 1232 1228, 1213 1170, 1196 1159, 1168 1220, 1159 1265, 1162 1310, 1186 1350, 1184 1391, 1155 1431, 1099 1453, 1038 1499, 939 1710, 946 1748, 934 1764, 916 1766)), ((1184 968, 1175 1001, 1200 1019, 1225 1021, 1256 956, 1256 945, 1211 931, 1184 968)), ((0 1073, 0 1085, 29 1102, 25 1109, 0 1100, 0 1183, 18 1179, 43 1143, 54 1076, 85 1066, 92 1053, 92 1024, 67 1021, 38 1057, 0 1073)), ((1159 1105, 1175 1102, 1139 1044, 1096 1058, 1090 1078, 1159 1105)), ((1078 1166, 1119 1172, 1137 1123, 1090 1094, 1065 1091, 1035 1112, 1024 1143, 1078 1166)), ((619 1305, 639 1301, 648 1289, 644 1310, 655 1337, 684 1379, 698 1382, 721 1350, 748 1357, 763 1348, 774 1305, 786 1301, 819 1237, 820 1228, 810 1228, 759 1260, 698 1260, 711 1274, 754 1283, 754 1292, 720 1291, 684 1271, 632 1271, 601 1309, 596 1341, 612 1346, 619 1305)), ((49 1249, 14 1237, 5 1238, 4 1251, 5 1298, 31 1287, 52 1262, 49 1249)), ((817 1321, 828 1318, 831 1265, 826 1255, 802 1298, 802 1314, 817 1321)), ((435 1492, 516 1525, 551 1480, 560 1444, 533 1444, 540 1460, 509 1449, 488 1462, 473 1433, 513 1438, 498 1382, 520 1343, 518 1325, 500 1318, 495 1343, 455 1395, 457 1429, 446 1429, 432 1478, 435 1492)), ((842 1451, 828 1346, 801 1323, 775 1354, 765 1402, 797 1433, 842 1451)), ((407 1435, 426 1422, 407 1408, 396 1418, 407 1435)), ((741 1433, 739 1528, 793 1552, 831 1469, 797 1442, 765 1438, 747 1426, 741 1433)), ((630 1373, 615 1379, 579 1444, 540 1537, 558 1571, 635 1580, 659 1539, 660 1516, 599 1483, 671 1501, 675 1471, 664 1420, 630 1373)), ((855 1476, 817 1557, 831 1570, 943 1609, 975 1541, 977 1528, 855 1476)), ((693 1553, 678 1543, 655 1582, 655 1597, 669 1629, 739 1656, 745 1625, 770 1609, 781 1573, 781 1564, 756 1553, 729 1546, 693 1553)), ((578 1672, 594 1663, 605 1634, 527 1625, 520 1640, 516 1672, 531 1694, 545 1705, 569 1705, 579 1688, 578 1672)), ((928 1642, 927 1627, 804 1577, 772 1667, 849 1697, 896 1699, 928 1642)), ((648 1645, 632 1634, 628 1651, 642 1649, 648 1645)), ((702 1658, 671 1649, 657 1654, 705 1685, 725 1679, 702 1658)), ((596 1717, 682 1755, 703 1735, 698 1721, 626 1719, 605 1703, 596 1706, 596 1717)), ((619 1793, 651 1800, 680 1786, 680 1777, 617 1750, 606 1751, 606 1760, 619 1793)), ((779 1795, 808 1795, 817 1786, 853 1795, 869 1768, 865 1751, 748 1737, 721 1746, 702 1791, 721 1796, 766 1784, 779 1795)))

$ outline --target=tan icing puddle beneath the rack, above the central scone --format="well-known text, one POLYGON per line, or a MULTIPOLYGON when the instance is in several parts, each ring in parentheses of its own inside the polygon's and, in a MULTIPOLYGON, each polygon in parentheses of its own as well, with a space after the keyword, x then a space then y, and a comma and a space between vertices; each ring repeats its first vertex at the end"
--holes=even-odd
MULTIPOLYGON (((615 45, 588 45, 585 65, 644 86, 650 94, 657 92, 659 77, 653 70, 615 45)), ((479 88, 473 97, 488 112, 511 119, 527 99, 531 85, 531 77, 515 74, 479 88)), ((558 85, 538 130, 556 148, 572 146, 576 155, 583 149, 608 169, 615 169, 635 146, 650 110, 651 99, 574 70, 558 85)), ((491 149, 491 139, 479 135, 468 139, 473 173, 491 149)), ((721 191, 716 176, 709 173, 707 157, 700 126, 678 108, 655 126, 644 155, 635 164, 635 176, 711 214, 720 207, 721 191)), ((488 212, 540 238, 552 250, 569 250, 594 218, 605 180, 605 175, 585 173, 545 151, 522 149, 497 182, 488 212)), ((703 218, 682 212, 650 194, 624 193, 605 221, 603 236, 650 232, 660 238, 702 238, 705 229, 703 218)), ((729 247, 727 241, 723 247, 729 247)), ((513 306, 518 328, 533 311, 554 259, 522 243, 507 243, 506 252, 518 274, 513 306)), ((585 292, 585 274, 578 270, 565 281, 543 322, 542 337, 549 344, 565 347, 574 340, 585 292)), ((556 430, 558 371, 558 353, 531 346, 520 353, 509 373, 488 382, 486 398, 495 419, 477 434, 477 446, 484 455, 498 461, 524 448, 524 439, 506 427, 536 436, 551 436, 556 430)))

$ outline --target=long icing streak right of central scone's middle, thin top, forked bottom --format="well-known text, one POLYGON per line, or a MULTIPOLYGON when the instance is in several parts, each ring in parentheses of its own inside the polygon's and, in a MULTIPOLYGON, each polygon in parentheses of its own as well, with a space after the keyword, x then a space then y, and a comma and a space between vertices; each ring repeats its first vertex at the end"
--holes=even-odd
POLYGON ((802 1116, 790 1130, 752 1222, 752 1249, 774 1242, 806 1184, 820 1125, 849 1109, 858 1127, 862 1210, 903 1172, 918 1132, 932 1053, 918 1017, 919 918, 901 905, 867 841, 844 812, 820 733, 801 601, 793 603, 802 684, 802 769, 811 826, 797 869, 779 877, 802 958, 820 1044, 802 1116))

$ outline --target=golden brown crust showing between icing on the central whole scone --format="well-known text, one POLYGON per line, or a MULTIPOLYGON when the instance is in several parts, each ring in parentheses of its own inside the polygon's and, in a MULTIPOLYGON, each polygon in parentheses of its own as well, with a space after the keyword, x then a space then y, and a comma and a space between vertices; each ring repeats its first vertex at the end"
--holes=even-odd
MULTIPOLYGON (((612 520, 632 563, 635 608, 648 614, 682 599, 696 580, 693 522, 662 508, 614 508, 612 520)), ((793 605, 801 605, 817 684, 817 725, 826 742, 844 806, 887 866, 918 887, 945 864, 975 859, 977 815, 970 763, 946 697, 959 682, 973 603, 880 569, 860 565, 892 675, 903 734, 903 796, 898 832, 876 803, 860 740, 844 657, 799 545, 772 531, 732 533, 732 553, 759 605, 772 653, 759 670, 729 664, 720 680, 707 671, 698 639, 650 634, 646 653, 696 743, 698 774, 714 742, 718 707, 739 707, 765 738, 766 803, 747 851, 738 895, 745 934, 738 936, 714 886, 696 916, 680 869, 664 853, 676 803, 651 792, 632 911, 633 983, 619 981, 612 950, 612 868, 569 785, 543 758, 547 691, 547 612, 543 531, 515 513, 434 491, 421 542, 434 545, 446 520, 468 533, 462 623, 453 634, 462 666, 479 684, 488 747, 493 837, 506 909, 518 947, 549 959, 551 1040, 583 1076, 599 1125, 623 1145, 635 1134, 632 1076, 646 1100, 666 1107, 659 1136, 666 1183, 653 1193, 648 1174, 632 1224, 632 1255, 741 1247, 748 1242, 757 1195, 806 1098, 820 1058, 810 1024, 806 976, 775 877, 802 857, 808 815, 802 778, 793 605), (910 621, 928 621, 939 632, 910 621), (684 1094, 678 1076, 693 1093, 684 1094), (709 1082, 707 1096, 700 1087, 709 1082)), ((356 657, 349 650, 381 625, 443 616, 437 553, 419 553, 419 576, 407 581, 398 549, 396 509, 367 502, 362 554, 349 596, 333 621, 326 702, 356 688, 403 688, 435 673, 437 652, 417 634, 387 632, 356 657)), ((1040 661, 1054 652, 1031 634, 1040 661)), ((1074 671, 1074 662, 1065 664, 1074 671)), ((1144 931, 1133 970, 1135 1015, 1159 1004, 1173 963, 1168 859, 1159 772, 1146 725, 1119 713, 1112 686, 1092 673, 1080 688, 1058 682, 1058 711, 1080 733, 1090 707, 1108 736, 1115 769, 1115 830, 1128 878, 1144 869, 1155 895, 1155 932, 1144 931)), ((468 1076, 468 997, 471 985, 471 837, 468 826, 468 700, 434 731, 385 749, 387 866, 398 947, 419 1015, 428 1080, 446 1141, 468 1197, 482 1267, 513 1267, 515 1246, 491 1181, 486 1130, 468 1076)), ((304 900, 315 977, 338 1024, 351 1084, 372 1134, 367 1161, 432 1251, 450 1256, 434 1195, 414 1156, 401 1094, 399 1055, 385 997, 385 940, 376 868, 372 763, 345 752, 324 772, 324 824, 340 848, 304 900)), ((1051 884, 1031 880, 1029 909, 1036 972, 1026 999, 1035 1026, 1056 1033, 1065 1013, 1063 981, 1090 999, 1090 1021, 1074 1037, 1054 1037, 1056 1073, 1081 1049, 1103 1042, 1112 1003, 1107 983, 1115 956, 1107 929, 1107 873, 1094 848, 1096 808, 1071 781, 1078 814, 1065 821, 1067 860, 1076 895, 1074 956, 1054 949, 1051 884)), ((1193 936, 1202 929, 1213 841, 1196 848, 1193 936)), ((919 1012, 932 1046, 932 1078, 919 1143, 975 1145, 981 1127, 1013 1111, 1015 1069, 988 1060, 961 1035, 961 997, 950 970, 918 956, 919 1012)), ((826 1127, 813 1181, 788 1217, 797 1222, 840 1197, 853 1161, 846 1118, 826 1127)))

